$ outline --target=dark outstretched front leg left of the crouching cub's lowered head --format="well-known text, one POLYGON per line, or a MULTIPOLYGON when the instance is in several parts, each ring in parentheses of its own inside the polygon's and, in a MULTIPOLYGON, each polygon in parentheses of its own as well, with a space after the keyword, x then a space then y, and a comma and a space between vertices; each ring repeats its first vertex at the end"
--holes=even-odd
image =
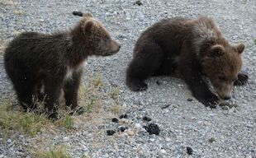
POLYGON ((210 106, 210 108, 216 108, 219 98, 210 91, 206 81, 203 80, 200 68, 201 67, 196 59, 195 61, 181 61, 179 65, 179 71, 192 91, 192 95, 203 105, 210 106))

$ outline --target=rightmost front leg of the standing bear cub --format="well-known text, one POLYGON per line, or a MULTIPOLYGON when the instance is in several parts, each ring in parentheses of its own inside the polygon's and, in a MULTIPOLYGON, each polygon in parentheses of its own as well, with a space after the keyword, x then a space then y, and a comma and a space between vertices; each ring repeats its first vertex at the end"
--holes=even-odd
POLYGON ((78 90, 80 86, 82 72, 73 72, 72 79, 65 81, 64 84, 64 97, 67 108, 71 108, 73 112, 83 114, 83 109, 78 107, 78 90))

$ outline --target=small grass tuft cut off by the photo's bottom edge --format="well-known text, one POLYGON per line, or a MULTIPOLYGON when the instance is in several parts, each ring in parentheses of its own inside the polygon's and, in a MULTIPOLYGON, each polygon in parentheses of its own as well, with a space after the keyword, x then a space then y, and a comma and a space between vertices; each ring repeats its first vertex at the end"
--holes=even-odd
POLYGON ((64 146, 59 146, 50 151, 36 151, 36 156, 38 158, 70 158, 65 151, 64 146))

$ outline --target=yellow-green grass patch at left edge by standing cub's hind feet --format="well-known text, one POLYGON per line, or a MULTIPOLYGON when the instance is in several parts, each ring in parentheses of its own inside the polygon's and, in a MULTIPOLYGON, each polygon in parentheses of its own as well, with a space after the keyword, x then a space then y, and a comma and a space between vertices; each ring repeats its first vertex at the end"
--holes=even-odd
POLYGON ((11 101, 4 101, 0 105, 0 128, 2 131, 20 131, 33 136, 48 123, 50 120, 45 114, 22 112, 21 109, 15 109, 11 101))

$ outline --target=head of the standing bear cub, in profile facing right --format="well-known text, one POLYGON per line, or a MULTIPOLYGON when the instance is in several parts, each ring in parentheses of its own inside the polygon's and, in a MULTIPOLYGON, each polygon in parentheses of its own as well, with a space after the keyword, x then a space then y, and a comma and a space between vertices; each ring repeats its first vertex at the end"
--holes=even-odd
POLYGON ((83 13, 78 26, 73 30, 77 40, 89 48, 89 55, 108 56, 117 53, 121 48, 100 21, 93 18, 91 13, 83 13))

